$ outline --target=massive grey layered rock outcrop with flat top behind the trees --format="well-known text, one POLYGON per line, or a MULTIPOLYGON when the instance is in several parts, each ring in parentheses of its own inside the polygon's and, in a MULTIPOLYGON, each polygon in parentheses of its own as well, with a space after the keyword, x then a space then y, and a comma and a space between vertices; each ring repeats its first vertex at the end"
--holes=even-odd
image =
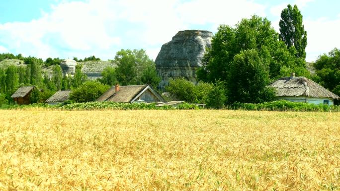
POLYGON ((159 88, 164 89, 170 78, 184 77, 197 82, 196 71, 206 47, 211 47, 212 32, 204 30, 179 31, 164 44, 156 58, 156 70, 162 77, 159 88))

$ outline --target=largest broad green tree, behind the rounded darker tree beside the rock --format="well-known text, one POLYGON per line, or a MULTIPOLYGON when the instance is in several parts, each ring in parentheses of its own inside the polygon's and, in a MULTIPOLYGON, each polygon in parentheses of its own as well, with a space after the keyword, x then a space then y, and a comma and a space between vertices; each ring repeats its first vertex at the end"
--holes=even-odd
MULTIPOLYGON (((235 28, 228 25, 221 25, 218 28, 217 33, 213 36, 211 48, 207 49, 202 59, 203 66, 197 72, 198 78, 206 82, 215 82, 216 80, 226 82, 225 89, 229 92, 228 95, 234 96, 235 94, 235 97, 228 98, 229 102, 250 100, 246 94, 243 94, 246 97, 237 99, 237 92, 232 92, 237 91, 237 88, 234 88, 234 81, 230 80, 231 70, 237 69, 234 67, 235 57, 246 50, 253 50, 253 52, 245 52, 241 56, 250 56, 251 59, 256 59, 263 64, 261 68, 268 75, 265 83, 269 79, 282 77, 282 73, 288 69, 297 71, 297 75, 309 75, 305 68, 304 59, 296 58, 295 48, 287 48, 284 42, 279 41, 278 33, 271 27, 271 23, 266 18, 254 15, 250 19, 242 19, 235 28), (285 67, 286 70, 282 70, 282 67, 285 67), (229 91, 230 87, 233 90, 229 91)), ((252 67, 252 65, 245 65, 252 67)), ((245 86, 245 88, 248 88, 247 92, 252 89, 251 86, 245 86)), ((263 100, 261 97, 252 98, 252 102, 263 100)))

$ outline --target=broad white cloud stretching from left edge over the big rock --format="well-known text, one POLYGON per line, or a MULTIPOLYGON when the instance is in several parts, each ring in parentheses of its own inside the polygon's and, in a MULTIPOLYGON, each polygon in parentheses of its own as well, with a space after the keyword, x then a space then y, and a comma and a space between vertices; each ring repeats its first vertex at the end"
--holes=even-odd
MULTIPOLYGON (((56 0, 50 13, 30 22, 0 24, 0 45, 24 56, 113 59, 120 49, 146 49, 156 59, 179 30, 215 32, 265 7, 253 0, 56 0)), ((1 51, 1 50, 0 50, 1 51)))

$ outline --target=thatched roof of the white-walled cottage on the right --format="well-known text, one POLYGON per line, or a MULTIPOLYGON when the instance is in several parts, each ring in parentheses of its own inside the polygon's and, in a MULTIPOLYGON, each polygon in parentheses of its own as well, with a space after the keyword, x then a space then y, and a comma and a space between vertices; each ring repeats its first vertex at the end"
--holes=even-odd
POLYGON ((327 97, 340 99, 339 96, 306 77, 282 77, 268 85, 276 89, 276 95, 327 97))

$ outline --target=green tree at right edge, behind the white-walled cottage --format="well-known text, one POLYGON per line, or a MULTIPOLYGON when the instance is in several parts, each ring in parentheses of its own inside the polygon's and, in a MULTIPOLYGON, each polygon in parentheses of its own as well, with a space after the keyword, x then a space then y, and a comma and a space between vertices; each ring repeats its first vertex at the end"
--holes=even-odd
POLYGON ((319 79, 316 82, 336 93, 334 90, 340 85, 340 50, 335 48, 328 55, 319 56, 313 65, 319 79))

